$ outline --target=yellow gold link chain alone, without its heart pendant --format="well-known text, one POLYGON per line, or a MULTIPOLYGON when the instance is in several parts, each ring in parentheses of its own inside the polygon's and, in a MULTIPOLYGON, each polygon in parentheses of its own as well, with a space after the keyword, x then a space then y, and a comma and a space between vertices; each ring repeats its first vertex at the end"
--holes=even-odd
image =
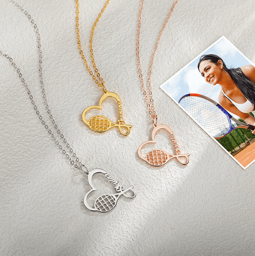
POLYGON ((77 39, 78 39, 78 46, 79 46, 79 50, 80 50, 80 55, 84 61, 84 64, 89 72, 89 74, 92 76, 92 78, 95 80, 96 84, 100 87, 103 88, 103 92, 104 93, 107 93, 108 91, 106 90, 105 86, 104 86, 104 80, 102 77, 100 77, 100 74, 96 68, 96 63, 95 63, 95 60, 94 60, 94 55, 93 55, 93 49, 92 49, 92 42, 93 42, 93 35, 94 35, 94 30, 95 30, 95 27, 96 27, 96 24, 97 22, 99 21, 99 18, 101 17, 101 15, 103 14, 106 6, 108 5, 109 3, 109 0, 107 0, 104 4, 104 7, 102 8, 100 14, 98 14, 97 18, 96 18, 96 21, 94 22, 94 25, 92 26, 92 30, 91 30, 91 34, 90 34, 90 44, 89 44, 89 48, 90 48, 90 56, 91 56, 91 60, 92 60, 92 63, 93 63, 93 67, 95 69, 95 72, 96 72, 96 75, 97 77, 99 78, 100 82, 96 79, 96 76, 93 74, 93 72, 91 71, 90 67, 88 66, 88 63, 85 59, 85 56, 83 55, 83 52, 82 52, 82 49, 81 49, 81 45, 80 45, 80 30, 79 30, 79 0, 76 0, 76 31, 77 31, 77 39))

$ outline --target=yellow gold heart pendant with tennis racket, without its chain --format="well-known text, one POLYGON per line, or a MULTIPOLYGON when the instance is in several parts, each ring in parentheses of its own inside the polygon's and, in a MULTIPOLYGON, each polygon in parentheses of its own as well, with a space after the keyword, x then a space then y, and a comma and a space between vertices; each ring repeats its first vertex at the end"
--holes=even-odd
POLYGON ((103 96, 99 100, 99 105, 98 106, 90 106, 86 108, 81 115, 82 121, 88 125, 88 127, 93 131, 93 132, 106 132, 111 128, 118 127, 120 130, 120 133, 123 136, 128 136, 130 133, 130 129, 132 128, 132 125, 126 124, 123 120, 123 113, 122 113, 122 107, 121 107, 121 100, 118 94, 116 93, 104 93, 103 96), (102 102, 108 98, 112 97, 117 100, 118 104, 118 111, 119 111, 119 117, 118 119, 118 124, 112 122, 109 118, 106 116, 92 116, 89 120, 86 120, 86 113, 92 109, 92 108, 97 108, 102 110, 102 102), (124 128, 125 131, 122 131, 121 128, 124 128))

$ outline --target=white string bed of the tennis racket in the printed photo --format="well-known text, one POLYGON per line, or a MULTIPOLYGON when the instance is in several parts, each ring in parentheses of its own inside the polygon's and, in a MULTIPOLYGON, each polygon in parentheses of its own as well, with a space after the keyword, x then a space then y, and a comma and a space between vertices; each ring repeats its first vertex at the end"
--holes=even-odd
POLYGON ((209 100, 187 96, 179 104, 213 137, 224 135, 231 128, 226 114, 209 100))

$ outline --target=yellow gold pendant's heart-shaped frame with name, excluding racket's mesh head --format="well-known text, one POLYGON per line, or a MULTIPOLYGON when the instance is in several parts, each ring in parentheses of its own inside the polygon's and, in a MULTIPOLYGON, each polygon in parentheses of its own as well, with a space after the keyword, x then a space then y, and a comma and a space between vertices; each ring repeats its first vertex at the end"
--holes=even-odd
POLYGON ((82 112, 81 119, 82 119, 82 121, 84 122, 84 124, 86 124, 93 132, 98 132, 98 133, 107 132, 107 131, 110 130, 111 128, 118 127, 120 133, 121 133, 123 136, 128 136, 129 133, 130 133, 130 129, 132 128, 132 125, 126 124, 126 123, 124 122, 124 120, 123 120, 122 107, 121 107, 121 100, 120 100, 119 95, 116 94, 116 93, 112 93, 112 92, 104 93, 104 94, 102 95, 102 97, 100 98, 100 100, 99 100, 99 105, 98 105, 98 106, 90 106, 90 107, 88 107, 88 108, 85 108, 84 111, 82 112), (108 98, 108 97, 112 97, 112 98, 114 98, 114 99, 117 100, 118 111, 119 111, 119 117, 120 117, 120 119, 118 119, 118 124, 116 124, 116 123, 112 122, 111 120, 109 120, 108 117, 102 116, 102 117, 104 117, 104 118, 107 118, 107 119, 111 122, 110 125, 111 125, 111 124, 113 124, 113 125, 110 126, 109 128, 107 128, 107 130, 105 130, 105 131, 95 131, 95 130, 93 130, 93 129, 91 128, 91 126, 89 125, 88 120, 86 120, 86 113, 87 113, 90 109, 93 109, 93 108, 102 110, 102 103, 103 103, 103 101, 104 101, 106 98, 108 98), (128 132, 124 133, 124 132, 121 130, 121 127, 122 127, 122 128, 127 128, 127 129, 128 129, 128 132))

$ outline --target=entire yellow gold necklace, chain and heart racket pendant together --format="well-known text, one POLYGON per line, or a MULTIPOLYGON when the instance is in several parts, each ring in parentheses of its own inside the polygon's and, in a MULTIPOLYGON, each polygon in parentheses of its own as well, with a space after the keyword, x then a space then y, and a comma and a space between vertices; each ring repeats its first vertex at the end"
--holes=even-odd
POLYGON ((100 14, 98 14, 96 21, 94 22, 94 25, 92 26, 92 30, 91 30, 91 34, 90 34, 90 44, 89 44, 89 48, 90 48, 90 57, 93 63, 93 67, 95 69, 96 72, 96 76, 98 77, 99 81, 97 80, 96 76, 93 74, 93 72, 91 71, 91 69, 88 66, 88 63, 85 59, 85 56, 82 52, 81 49, 81 45, 80 45, 80 30, 79 30, 79 0, 76 0, 76 31, 77 31, 77 39, 78 39, 78 46, 79 46, 79 50, 80 50, 80 55, 84 61, 84 64, 89 72, 89 74, 92 76, 92 78, 95 80, 96 84, 99 87, 102 87, 103 89, 103 95, 99 100, 99 104, 97 106, 90 106, 88 108, 85 108, 84 111, 82 112, 81 118, 83 120, 83 122, 93 131, 93 132, 106 132, 111 128, 114 127, 118 127, 120 133, 123 136, 128 136, 130 133, 130 129, 132 128, 132 125, 130 124, 126 124, 124 119, 123 119, 123 112, 122 112, 122 106, 121 106, 121 100, 120 97, 117 93, 112 93, 112 92, 108 92, 108 90, 105 88, 104 86, 104 80, 103 78, 100 76, 100 73, 98 72, 98 69, 96 68, 96 63, 94 60, 94 55, 93 55, 93 49, 92 49, 92 42, 93 42, 93 35, 94 35, 94 30, 96 27, 97 22, 99 21, 99 18, 101 17, 101 15, 103 14, 106 6, 108 5, 109 0, 107 0, 104 4, 104 7, 102 8, 100 14), (112 97, 117 101, 117 105, 118 105, 118 111, 119 111, 119 119, 118 119, 118 123, 114 123, 112 122, 109 118, 107 118, 106 116, 101 116, 101 115, 97 115, 97 116, 92 116, 89 120, 86 119, 86 113, 91 110, 92 108, 96 108, 96 109, 100 109, 102 110, 102 102, 108 98, 108 97, 112 97))

